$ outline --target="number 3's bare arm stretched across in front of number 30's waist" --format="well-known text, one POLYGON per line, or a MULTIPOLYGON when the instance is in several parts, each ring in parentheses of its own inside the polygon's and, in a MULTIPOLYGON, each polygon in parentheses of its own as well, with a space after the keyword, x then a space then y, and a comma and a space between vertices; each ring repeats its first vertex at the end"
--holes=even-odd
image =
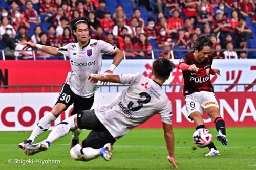
POLYGON ((119 75, 114 75, 109 73, 101 73, 101 74, 91 73, 88 80, 90 80, 90 82, 92 83, 97 83, 98 80, 101 82, 121 83, 119 75))

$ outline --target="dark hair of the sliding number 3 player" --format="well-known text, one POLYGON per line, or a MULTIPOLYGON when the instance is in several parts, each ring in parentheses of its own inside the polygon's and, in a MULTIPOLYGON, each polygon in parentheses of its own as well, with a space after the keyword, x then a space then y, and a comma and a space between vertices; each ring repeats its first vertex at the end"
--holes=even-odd
POLYGON ((175 68, 175 64, 164 57, 158 57, 153 61, 154 75, 157 78, 166 79, 175 68))

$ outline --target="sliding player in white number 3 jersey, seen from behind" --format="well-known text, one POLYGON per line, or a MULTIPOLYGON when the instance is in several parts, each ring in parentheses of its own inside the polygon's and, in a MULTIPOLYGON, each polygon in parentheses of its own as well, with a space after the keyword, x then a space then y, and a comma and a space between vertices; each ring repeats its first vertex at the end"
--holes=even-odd
POLYGON ((72 129, 92 130, 87 138, 75 145, 71 157, 75 160, 89 161, 102 156, 105 160, 112 157, 112 145, 133 128, 159 114, 164 129, 168 150, 168 161, 177 168, 174 158, 174 134, 172 128, 172 105, 162 84, 170 76, 175 65, 165 58, 153 62, 152 79, 142 74, 91 74, 91 82, 103 81, 129 84, 114 102, 102 105, 95 110, 80 111, 56 125, 46 140, 25 148, 26 155, 45 151, 56 139, 63 137, 72 129))

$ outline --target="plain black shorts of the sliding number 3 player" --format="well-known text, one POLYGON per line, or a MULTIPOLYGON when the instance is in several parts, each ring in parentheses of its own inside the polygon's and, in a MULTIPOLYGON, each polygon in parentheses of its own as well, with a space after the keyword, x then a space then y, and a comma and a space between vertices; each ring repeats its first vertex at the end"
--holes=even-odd
POLYGON ((86 139, 82 141, 82 147, 99 149, 106 143, 112 145, 116 139, 110 134, 95 115, 94 110, 84 110, 77 114, 77 125, 79 129, 92 130, 86 139))

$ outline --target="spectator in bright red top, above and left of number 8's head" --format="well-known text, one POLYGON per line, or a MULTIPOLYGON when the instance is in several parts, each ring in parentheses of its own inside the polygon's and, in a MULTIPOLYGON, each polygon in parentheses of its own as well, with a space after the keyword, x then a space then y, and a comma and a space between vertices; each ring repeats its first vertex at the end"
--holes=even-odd
POLYGON ((168 29, 170 30, 168 34, 171 34, 171 33, 176 34, 179 29, 184 28, 184 22, 179 16, 180 16, 180 11, 177 9, 174 9, 172 11, 172 17, 169 18, 168 20, 168 29))

